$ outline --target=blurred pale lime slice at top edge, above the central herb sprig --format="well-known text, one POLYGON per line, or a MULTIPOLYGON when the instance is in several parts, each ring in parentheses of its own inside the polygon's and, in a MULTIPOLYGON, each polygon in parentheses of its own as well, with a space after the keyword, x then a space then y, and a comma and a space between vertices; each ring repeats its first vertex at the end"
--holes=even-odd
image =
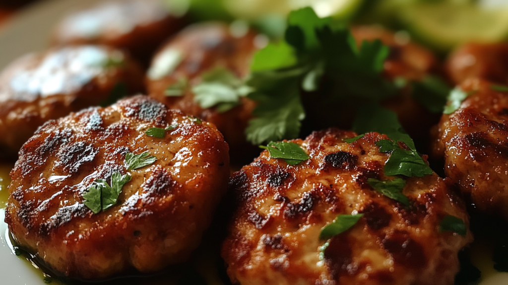
POLYGON ((266 15, 288 15, 292 10, 310 6, 320 17, 350 18, 363 0, 224 0, 233 16, 256 20, 266 15))

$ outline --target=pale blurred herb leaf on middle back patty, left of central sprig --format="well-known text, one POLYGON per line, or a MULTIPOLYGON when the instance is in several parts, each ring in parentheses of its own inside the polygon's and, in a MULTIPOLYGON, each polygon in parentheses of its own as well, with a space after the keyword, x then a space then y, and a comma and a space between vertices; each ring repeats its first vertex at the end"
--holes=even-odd
POLYGON ((202 76, 202 81, 192 88, 194 101, 201 108, 217 106, 225 112, 238 105, 241 97, 247 96, 251 88, 243 80, 225 68, 217 68, 202 76), (224 107, 226 104, 227 108, 224 107))

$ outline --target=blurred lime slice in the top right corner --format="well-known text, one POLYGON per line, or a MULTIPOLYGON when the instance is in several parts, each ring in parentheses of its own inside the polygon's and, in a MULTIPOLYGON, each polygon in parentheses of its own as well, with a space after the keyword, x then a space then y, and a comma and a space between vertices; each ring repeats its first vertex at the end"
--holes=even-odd
POLYGON ((448 50, 465 42, 492 43, 508 36, 508 4, 504 1, 412 2, 399 16, 419 40, 448 50))

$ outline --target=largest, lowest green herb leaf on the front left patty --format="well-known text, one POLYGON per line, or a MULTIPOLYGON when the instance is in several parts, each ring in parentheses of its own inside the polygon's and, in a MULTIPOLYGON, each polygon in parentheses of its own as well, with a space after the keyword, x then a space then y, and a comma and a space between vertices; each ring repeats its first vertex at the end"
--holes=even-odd
POLYGON ((99 213, 101 210, 105 211, 109 209, 116 205, 123 185, 131 181, 131 178, 130 175, 121 175, 115 172, 111 175, 111 186, 106 180, 97 179, 88 188, 88 192, 83 193, 83 203, 94 214, 99 213))

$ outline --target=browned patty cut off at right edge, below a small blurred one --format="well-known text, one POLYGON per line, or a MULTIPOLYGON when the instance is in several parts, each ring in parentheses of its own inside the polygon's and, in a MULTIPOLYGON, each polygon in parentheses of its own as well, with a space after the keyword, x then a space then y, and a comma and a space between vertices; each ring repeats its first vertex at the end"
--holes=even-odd
POLYGON ((475 93, 442 116, 435 155, 444 155, 444 172, 475 207, 508 219, 508 93, 479 79, 460 87, 475 93))

